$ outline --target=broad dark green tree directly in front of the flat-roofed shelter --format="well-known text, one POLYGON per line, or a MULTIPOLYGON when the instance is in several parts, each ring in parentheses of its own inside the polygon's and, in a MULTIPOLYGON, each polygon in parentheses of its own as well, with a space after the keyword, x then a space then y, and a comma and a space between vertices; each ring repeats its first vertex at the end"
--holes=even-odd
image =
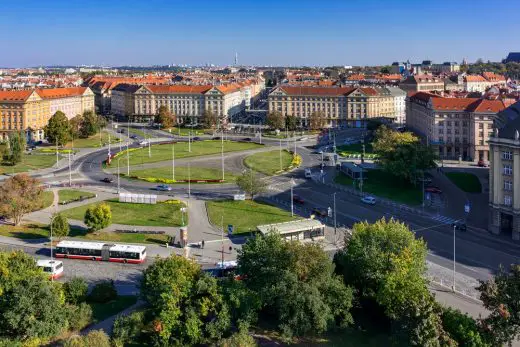
POLYGON ((317 244, 286 242, 276 232, 249 239, 237 272, 286 337, 320 334, 352 323, 352 290, 317 244))

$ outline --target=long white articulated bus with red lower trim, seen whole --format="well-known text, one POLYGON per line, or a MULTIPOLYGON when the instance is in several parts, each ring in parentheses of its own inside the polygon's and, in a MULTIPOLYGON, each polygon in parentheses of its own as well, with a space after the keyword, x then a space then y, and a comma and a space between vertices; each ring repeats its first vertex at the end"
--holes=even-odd
POLYGON ((55 256, 138 264, 146 259, 146 247, 103 242, 61 241, 56 245, 55 256))

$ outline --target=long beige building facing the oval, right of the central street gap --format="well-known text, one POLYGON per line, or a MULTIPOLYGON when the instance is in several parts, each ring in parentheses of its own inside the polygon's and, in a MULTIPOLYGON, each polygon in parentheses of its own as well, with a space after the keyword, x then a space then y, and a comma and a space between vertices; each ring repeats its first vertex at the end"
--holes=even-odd
POLYGON ((364 127, 372 118, 396 118, 395 95, 386 88, 280 86, 268 97, 269 112, 296 116, 299 125, 320 112, 326 127, 364 127))

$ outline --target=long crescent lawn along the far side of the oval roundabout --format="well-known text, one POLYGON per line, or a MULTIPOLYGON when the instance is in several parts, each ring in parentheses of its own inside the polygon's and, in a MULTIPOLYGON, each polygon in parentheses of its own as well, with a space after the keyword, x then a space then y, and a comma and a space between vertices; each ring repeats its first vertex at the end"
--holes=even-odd
MULTIPOLYGON (((218 154, 221 152, 221 142, 215 141, 195 141, 191 144, 191 152, 188 151, 189 146, 187 142, 178 142, 175 145, 175 159, 188 158, 201 155, 218 154)), ((248 149, 260 148, 262 145, 246 142, 232 142, 224 141, 224 152, 245 151, 248 149)), ((172 160, 172 145, 152 145, 152 156, 148 156, 148 147, 130 149, 130 165, 138 165, 144 163, 156 163, 159 161, 172 160)), ((126 165, 126 150, 117 155, 113 160, 112 165, 117 165, 117 159, 121 158, 120 165, 126 165)))

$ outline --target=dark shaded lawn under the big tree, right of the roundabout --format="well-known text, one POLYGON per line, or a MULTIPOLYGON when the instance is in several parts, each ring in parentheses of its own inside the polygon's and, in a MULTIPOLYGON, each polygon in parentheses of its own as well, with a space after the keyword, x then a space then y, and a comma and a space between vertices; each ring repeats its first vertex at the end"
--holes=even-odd
MULTIPOLYGON (((368 170, 363 175, 363 192, 408 205, 419 205, 422 202, 420 186, 415 187, 408 182, 403 182, 382 170, 368 170)), ((338 174, 334 181, 349 187, 354 186, 352 179, 342 173, 338 174)), ((359 188, 357 182, 356 188, 359 188)))

